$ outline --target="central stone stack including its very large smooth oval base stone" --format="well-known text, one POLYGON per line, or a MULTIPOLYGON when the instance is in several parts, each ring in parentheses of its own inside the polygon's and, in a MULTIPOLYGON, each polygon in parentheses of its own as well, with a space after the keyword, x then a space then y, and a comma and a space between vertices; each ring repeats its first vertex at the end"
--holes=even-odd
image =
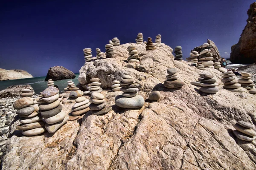
POLYGON ((116 96, 116 105, 120 108, 141 108, 145 101, 138 95, 140 85, 130 75, 124 75, 121 78, 122 95, 116 96))

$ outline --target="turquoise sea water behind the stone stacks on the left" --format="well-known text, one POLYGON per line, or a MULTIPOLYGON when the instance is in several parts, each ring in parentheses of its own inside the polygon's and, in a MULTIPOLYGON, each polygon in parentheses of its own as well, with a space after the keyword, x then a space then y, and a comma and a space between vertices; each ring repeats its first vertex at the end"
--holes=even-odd
MULTIPOLYGON (((79 83, 78 81, 79 73, 76 74, 74 79, 64 79, 54 81, 55 85, 58 85, 59 91, 64 91, 64 88, 67 87, 67 81, 72 80, 75 85, 79 83)), ((39 94, 41 91, 44 91, 47 88, 47 82, 44 81, 45 77, 33 77, 28 79, 15 79, 15 80, 6 80, 0 81, 0 91, 11 86, 11 85, 31 85, 35 91, 35 94, 39 94)))

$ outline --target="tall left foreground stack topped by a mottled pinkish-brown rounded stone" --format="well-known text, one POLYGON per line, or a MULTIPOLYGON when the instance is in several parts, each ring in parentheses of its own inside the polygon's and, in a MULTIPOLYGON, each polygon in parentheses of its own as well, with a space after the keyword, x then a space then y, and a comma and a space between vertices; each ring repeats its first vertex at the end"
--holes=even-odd
POLYGON ((55 87, 46 88, 38 99, 40 113, 46 122, 44 127, 49 133, 55 133, 59 127, 64 125, 69 117, 62 111, 62 105, 58 100, 58 89, 55 87))

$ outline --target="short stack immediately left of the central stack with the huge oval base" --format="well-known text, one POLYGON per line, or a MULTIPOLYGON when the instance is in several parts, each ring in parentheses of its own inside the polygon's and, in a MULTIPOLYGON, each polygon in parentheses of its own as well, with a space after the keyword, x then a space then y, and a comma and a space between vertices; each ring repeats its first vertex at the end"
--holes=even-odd
POLYGON ((94 115, 102 115, 108 113, 112 109, 111 106, 106 107, 107 102, 104 99, 104 95, 97 92, 91 94, 90 102, 91 104, 89 105, 89 108, 94 115))

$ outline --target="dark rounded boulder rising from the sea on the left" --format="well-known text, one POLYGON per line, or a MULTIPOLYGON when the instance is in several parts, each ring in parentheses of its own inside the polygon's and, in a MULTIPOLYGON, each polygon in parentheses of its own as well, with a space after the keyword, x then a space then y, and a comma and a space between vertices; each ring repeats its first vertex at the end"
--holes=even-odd
POLYGON ((62 66, 54 66, 49 68, 45 81, 48 79, 55 80, 62 80, 62 79, 73 79, 76 77, 72 71, 64 68, 62 66))

